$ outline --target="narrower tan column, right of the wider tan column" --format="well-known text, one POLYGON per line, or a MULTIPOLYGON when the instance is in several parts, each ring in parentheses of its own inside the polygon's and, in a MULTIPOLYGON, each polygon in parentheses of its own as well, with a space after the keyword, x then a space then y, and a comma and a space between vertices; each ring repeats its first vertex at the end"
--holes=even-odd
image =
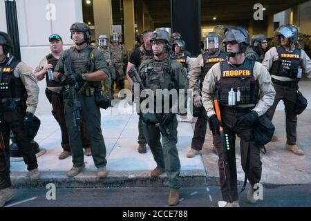
POLYGON ((123 0, 124 8, 124 43, 126 49, 135 44, 134 0, 123 0))

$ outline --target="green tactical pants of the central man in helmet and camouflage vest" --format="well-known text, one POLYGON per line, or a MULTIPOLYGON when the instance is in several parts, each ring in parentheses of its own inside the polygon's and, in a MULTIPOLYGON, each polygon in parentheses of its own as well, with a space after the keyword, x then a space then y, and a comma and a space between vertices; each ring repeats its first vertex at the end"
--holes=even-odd
POLYGON ((142 121, 142 130, 147 144, 150 146, 153 158, 157 165, 165 168, 167 177, 169 177, 169 188, 179 189, 181 186, 180 160, 177 151, 177 126, 178 122, 175 118, 167 124, 167 128, 171 134, 169 136, 162 135, 162 144, 160 142, 161 134, 159 128, 155 124, 150 124, 142 121))

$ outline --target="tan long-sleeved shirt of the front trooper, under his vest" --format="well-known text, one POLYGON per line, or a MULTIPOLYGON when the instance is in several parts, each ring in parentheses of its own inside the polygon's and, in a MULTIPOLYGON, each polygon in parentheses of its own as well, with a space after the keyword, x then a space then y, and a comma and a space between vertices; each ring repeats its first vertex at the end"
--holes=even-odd
MULTIPOLYGON (((214 94, 216 93, 216 83, 220 80, 220 75, 220 63, 217 63, 211 67, 203 82, 202 103, 207 111, 208 117, 215 115, 214 94)), ((270 108, 270 106, 272 106, 275 90, 271 81, 270 73, 257 61, 254 66, 253 76, 258 82, 260 99, 252 111, 256 111, 256 113, 261 116, 268 108, 270 108)))

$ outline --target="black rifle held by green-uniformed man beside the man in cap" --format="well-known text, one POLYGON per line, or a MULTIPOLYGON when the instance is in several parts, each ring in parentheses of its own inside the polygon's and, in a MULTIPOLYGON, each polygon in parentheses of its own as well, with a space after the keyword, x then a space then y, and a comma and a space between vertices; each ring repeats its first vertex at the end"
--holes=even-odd
MULTIPOLYGON (((73 70, 73 64, 70 58, 70 52, 66 52, 66 59, 68 64, 68 76, 73 75, 75 72, 73 70)), ((79 128, 80 131, 80 124, 81 124, 81 102, 77 97, 77 90, 79 89, 79 84, 76 82, 74 86, 67 85, 65 87, 65 94, 71 95, 70 98, 73 101, 73 124, 79 128)))

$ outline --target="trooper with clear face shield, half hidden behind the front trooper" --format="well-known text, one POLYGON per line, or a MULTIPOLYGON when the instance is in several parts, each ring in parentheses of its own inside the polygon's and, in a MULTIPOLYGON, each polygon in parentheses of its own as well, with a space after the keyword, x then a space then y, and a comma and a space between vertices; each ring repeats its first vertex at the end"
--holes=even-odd
MULTIPOLYGON (((194 137, 192 137, 191 149, 187 153, 188 158, 199 154, 205 142, 207 130, 207 113, 202 104, 202 84, 209 69, 214 64, 225 61, 227 55, 221 50, 221 37, 216 32, 207 33, 204 41, 205 50, 199 55, 191 66, 189 75, 189 88, 194 93, 194 115, 198 117, 194 128, 194 137)), ((213 147, 213 151, 215 148, 213 147)))

